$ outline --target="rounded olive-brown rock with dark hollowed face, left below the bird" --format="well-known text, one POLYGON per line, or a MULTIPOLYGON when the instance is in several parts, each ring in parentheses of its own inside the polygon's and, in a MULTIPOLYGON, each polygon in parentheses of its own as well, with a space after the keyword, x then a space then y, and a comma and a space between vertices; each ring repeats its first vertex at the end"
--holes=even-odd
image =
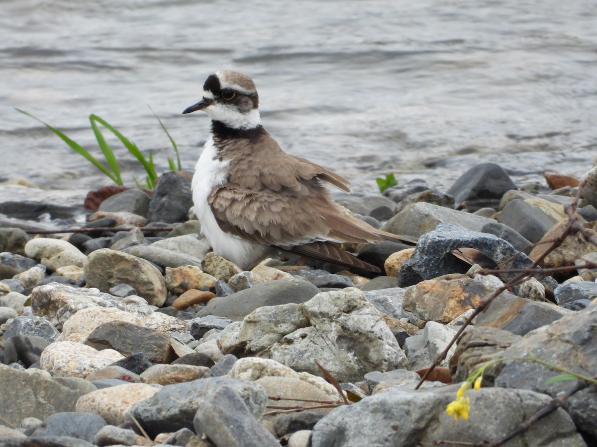
POLYGON ((137 290, 150 305, 159 308, 166 300, 168 290, 158 269, 131 254, 110 249, 96 250, 89 255, 84 271, 88 287, 107 292, 110 287, 125 283, 137 290))

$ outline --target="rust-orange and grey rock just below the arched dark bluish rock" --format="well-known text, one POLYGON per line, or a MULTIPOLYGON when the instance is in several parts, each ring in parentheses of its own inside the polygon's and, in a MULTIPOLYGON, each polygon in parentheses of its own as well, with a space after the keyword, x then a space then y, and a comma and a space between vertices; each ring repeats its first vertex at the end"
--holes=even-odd
POLYGON ((470 278, 436 278, 411 285, 404 294, 403 308, 423 321, 449 323, 476 308, 490 289, 470 278))

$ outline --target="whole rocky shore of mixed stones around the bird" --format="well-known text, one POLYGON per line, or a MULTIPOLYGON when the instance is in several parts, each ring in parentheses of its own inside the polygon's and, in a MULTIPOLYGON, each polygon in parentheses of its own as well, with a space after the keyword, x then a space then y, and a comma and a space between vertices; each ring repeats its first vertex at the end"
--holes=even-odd
POLYGON ((414 181, 338 195, 369 224, 418 237, 344 247, 376 277, 292 259, 242 271, 210 252, 190 178, 174 172, 85 222, 77 207, 0 203, 0 446, 482 445, 554 398, 504 445, 597 445, 595 385, 549 380, 562 372, 540 362, 497 362, 461 395, 499 358, 597 374, 595 175, 575 231, 575 179, 516 185, 492 163, 448 191, 414 181))

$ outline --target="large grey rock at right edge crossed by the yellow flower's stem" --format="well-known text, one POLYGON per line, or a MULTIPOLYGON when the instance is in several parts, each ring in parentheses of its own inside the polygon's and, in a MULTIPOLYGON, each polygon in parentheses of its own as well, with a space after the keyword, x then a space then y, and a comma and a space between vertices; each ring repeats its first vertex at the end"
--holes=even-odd
MULTIPOLYGON (((597 370, 597 306, 589 306, 578 312, 563 316, 552 324, 540 327, 503 351, 504 357, 527 356, 533 353, 538 359, 556 366, 592 377, 597 370)), ((547 383, 559 374, 551 368, 530 361, 507 361, 501 367, 496 386, 533 390, 556 396, 576 386, 576 380, 547 383)), ((574 423, 581 428, 587 439, 597 442, 597 426, 585 424, 586 415, 597 414, 597 400, 592 390, 583 390, 571 396, 565 408, 571 412, 574 423)))

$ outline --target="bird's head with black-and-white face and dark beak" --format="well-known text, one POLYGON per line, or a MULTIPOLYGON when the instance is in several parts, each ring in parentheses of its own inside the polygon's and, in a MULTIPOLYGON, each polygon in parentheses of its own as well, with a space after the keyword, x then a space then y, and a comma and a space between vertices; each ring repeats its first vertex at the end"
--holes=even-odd
POLYGON ((221 70, 203 85, 203 98, 183 113, 204 110, 214 121, 232 129, 254 129, 261 124, 259 96, 250 77, 221 70))

